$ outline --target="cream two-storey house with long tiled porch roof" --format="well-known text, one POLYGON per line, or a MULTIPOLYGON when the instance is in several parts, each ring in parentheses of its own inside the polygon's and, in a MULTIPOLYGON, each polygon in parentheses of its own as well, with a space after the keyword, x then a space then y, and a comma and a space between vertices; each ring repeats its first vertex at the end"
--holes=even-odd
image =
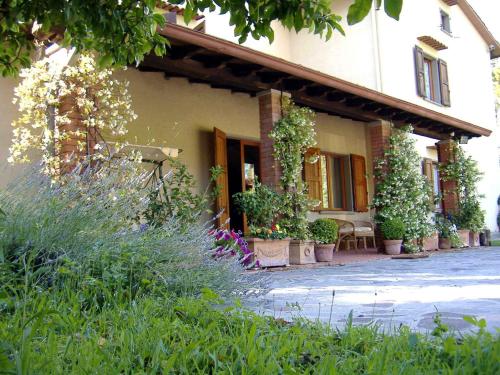
MULTIPOLYGON (((345 16, 350 1, 333 3, 345 16)), ((283 96, 317 112, 320 163, 305 168, 311 197, 322 203, 311 218, 367 220, 374 192, 373 161, 383 153, 391 123, 411 124, 424 170, 438 193, 443 181, 435 165, 452 157, 451 139, 467 150, 486 173, 480 186, 487 225, 496 230, 499 166, 491 59, 500 44, 465 0, 406 2, 400 21, 372 10, 347 35, 329 41, 276 25, 275 40, 237 44, 226 15, 197 15, 185 26, 182 9, 166 6, 170 40, 165 57, 147 56, 137 68, 117 73, 130 81, 139 116, 129 141, 182 150, 201 185, 209 167, 225 167, 218 207, 221 220, 243 218, 231 196, 258 176, 275 185, 279 171, 267 136, 280 116, 283 96), (493 132, 495 130, 495 132, 493 132), (367 177, 368 176, 368 177, 367 177)), ((10 102, 10 81, 1 81, 3 103, 10 102)), ((7 107, 7 106, 6 106, 7 107)), ((14 116, 5 109, 5 129, 14 116)), ((441 209, 456 201, 444 194, 441 209)))

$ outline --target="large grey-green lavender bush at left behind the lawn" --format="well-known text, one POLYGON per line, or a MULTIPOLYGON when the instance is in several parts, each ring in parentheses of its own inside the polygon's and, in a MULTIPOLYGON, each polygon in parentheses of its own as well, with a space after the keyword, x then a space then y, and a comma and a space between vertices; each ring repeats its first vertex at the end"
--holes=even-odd
POLYGON ((131 162, 84 169, 54 183, 33 171, 0 191, 0 282, 38 288, 68 280, 97 302, 103 293, 133 299, 152 292, 222 294, 252 287, 236 259, 214 259, 209 227, 187 231, 175 217, 137 222, 148 206, 149 174, 131 162))

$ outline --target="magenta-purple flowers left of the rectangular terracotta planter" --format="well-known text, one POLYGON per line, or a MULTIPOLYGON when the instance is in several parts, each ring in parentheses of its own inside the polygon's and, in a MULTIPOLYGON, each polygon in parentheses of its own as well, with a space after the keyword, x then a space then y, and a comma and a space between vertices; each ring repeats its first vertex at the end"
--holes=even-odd
POLYGON ((253 261, 252 251, 241 236, 240 232, 225 229, 217 229, 212 232, 214 236, 214 258, 224 258, 227 256, 237 256, 240 263, 246 268, 258 267, 259 264, 253 261))

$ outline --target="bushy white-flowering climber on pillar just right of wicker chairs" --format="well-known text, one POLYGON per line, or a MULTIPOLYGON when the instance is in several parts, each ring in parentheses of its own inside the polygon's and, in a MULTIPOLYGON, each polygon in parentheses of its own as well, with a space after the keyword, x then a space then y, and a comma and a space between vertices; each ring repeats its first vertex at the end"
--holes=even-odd
POLYGON ((405 245, 431 234, 430 186, 420 170, 420 156, 411 127, 392 129, 384 158, 375 162, 376 194, 372 207, 377 223, 400 218, 405 225, 405 245))

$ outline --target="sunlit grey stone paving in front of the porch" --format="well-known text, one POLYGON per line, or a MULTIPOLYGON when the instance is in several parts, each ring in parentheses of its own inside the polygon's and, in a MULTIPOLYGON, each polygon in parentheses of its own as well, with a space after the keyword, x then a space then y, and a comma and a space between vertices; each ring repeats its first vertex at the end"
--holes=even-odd
POLYGON ((377 322, 386 329, 405 324, 426 332, 438 311, 456 330, 472 328, 464 315, 485 318, 492 332, 500 328, 500 247, 267 275, 271 290, 247 304, 277 318, 300 316, 342 326, 352 311, 355 324, 377 322))

